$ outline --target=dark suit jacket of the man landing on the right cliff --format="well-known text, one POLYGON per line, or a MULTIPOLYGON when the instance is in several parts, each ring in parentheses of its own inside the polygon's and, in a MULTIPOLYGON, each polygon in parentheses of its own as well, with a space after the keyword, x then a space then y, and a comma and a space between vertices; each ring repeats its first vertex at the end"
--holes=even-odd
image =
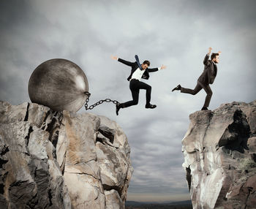
POLYGON ((217 65, 214 64, 213 61, 209 60, 208 54, 206 54, 203 64, 205 65, 203 73, 197 81, 207 86, 214 83, 215 77, 217 76, 217 65))

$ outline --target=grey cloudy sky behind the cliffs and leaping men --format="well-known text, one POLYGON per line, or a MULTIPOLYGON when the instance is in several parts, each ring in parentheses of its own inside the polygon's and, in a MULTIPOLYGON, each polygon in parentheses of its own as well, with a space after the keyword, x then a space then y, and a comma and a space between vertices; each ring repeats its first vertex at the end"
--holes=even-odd
MULTIPOLYGON (((34 69, 51 58, 78 64, 89 80, 91 101, 126 102, 130 68, 111 55, 148 59, 167 69, 151 73, 151 103, 145 91, 137 106, 102 104, 89 113, 117 121, 127 134, 135 171, 128 200, 189 199, 181 140, 189 114, 203 106, 204 91, 172 93, 181 84, 194 88, 208 47, 222 51, 211 86, 210 109, 256 99, 256 3, 252 1, 10 1, 0 2, 0 100, 29 102, 27 86, 34 69)), ((83 108, 80 113, 86 112, 83 108)))

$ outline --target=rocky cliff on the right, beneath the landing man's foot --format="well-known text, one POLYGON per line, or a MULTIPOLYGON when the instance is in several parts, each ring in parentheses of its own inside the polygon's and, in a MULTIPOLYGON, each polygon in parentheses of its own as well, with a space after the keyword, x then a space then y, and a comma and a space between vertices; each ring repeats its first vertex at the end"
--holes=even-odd
POLYGON ((256 208, 256 100, 189 118, 182 151, 193 208, 256 208))

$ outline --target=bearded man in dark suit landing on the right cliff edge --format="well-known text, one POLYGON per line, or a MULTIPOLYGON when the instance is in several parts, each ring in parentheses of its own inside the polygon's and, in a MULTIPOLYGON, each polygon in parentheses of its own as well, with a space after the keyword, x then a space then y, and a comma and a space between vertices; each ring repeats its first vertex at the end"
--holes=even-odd
POLYGON ((197 80, 197 86, 195 86, 194 89, 190 88, 183 88, 181 85, 176 86, 176 88, 173 88, 172 91, 181 90, 181 93, 186 94, 197 94, 202 88, 204 91, 206 91, 206 100, 203 104, 203 107, 201 110, 208 110, 208 106, 211 101, 212 91, 209 86, 209 84, 214 83, 214 79, 217 75, 217 64, 219 63, 219 54, 221 53, 212 53, 212 48, 209 47, 208 53, 206 54, 206 57, 203 60, 203 64, 205 65, 202 75, 197 80), (211 60, 209 60, 209 56, 211 54, 211 60))

